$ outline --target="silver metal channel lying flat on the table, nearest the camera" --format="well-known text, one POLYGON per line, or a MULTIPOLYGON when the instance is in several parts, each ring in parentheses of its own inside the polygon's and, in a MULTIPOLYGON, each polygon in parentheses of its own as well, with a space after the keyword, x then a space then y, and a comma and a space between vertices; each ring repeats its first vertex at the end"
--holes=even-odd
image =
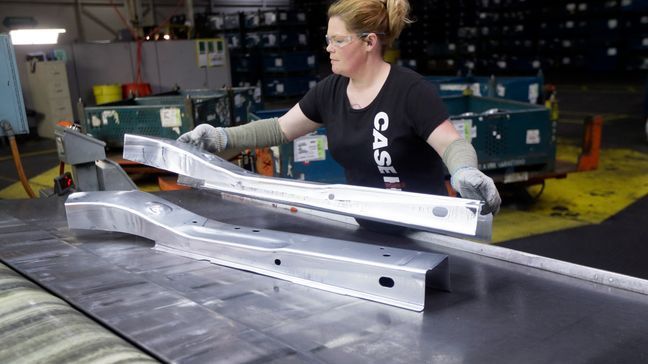
POLYGON ((79 192, 65 203, 71 229, 119 231, 156 249, 414 311, 426 287, 448 290, 448 257, 207 219, 140 191, 79 192))

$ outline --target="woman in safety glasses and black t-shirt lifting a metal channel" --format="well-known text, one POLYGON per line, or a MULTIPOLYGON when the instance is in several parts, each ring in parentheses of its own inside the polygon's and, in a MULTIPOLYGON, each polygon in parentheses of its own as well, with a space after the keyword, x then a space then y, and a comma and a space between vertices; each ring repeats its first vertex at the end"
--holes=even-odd
POLYGON ((331 76, 280 118, 226 129, 202 124, 178 140, 220 152, 286 143, 324 125, 349 184, 446 195, 443 162, 461 196, 497 213, 495 184, 477 169, 474 148, 448 120, 433 85, 383 60, 411 22, 409 10, 407 0, 338 0, 328 10, 331 76))

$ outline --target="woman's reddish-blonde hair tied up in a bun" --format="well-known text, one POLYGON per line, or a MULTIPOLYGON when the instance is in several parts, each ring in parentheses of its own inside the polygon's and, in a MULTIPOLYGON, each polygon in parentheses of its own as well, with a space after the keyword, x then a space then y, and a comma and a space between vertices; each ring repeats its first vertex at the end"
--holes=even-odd
POLYGON ((355 33, 384 33, 378 35, 386 47, 391 47, 406 24, 410 5, 407 0, 337 0, 328 10, 328 17, 338 16, 355 33))

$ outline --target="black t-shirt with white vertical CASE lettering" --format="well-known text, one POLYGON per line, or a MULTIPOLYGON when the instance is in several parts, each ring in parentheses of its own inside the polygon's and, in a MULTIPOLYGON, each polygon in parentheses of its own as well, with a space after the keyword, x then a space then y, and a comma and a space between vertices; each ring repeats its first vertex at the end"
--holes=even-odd
POLYGON ((331 75, 299 102, 309 119, 326 126, 329 149, 352 185, 446 195, 443 162, 427 144, 448 119, 434 86, 409 69, 391 66, 369 106, 353 109, 349 79, 331 75))

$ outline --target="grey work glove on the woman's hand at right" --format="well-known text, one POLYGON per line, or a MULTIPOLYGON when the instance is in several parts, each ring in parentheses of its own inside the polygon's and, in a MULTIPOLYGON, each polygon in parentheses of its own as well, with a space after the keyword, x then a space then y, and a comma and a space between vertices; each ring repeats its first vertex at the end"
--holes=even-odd
POLYGON ((474 167, 459 168, 450 178, 450 184, 461 197, 484 201, 482 215, 499 211, 502 199, 497 192, 493 179, 474 167))

